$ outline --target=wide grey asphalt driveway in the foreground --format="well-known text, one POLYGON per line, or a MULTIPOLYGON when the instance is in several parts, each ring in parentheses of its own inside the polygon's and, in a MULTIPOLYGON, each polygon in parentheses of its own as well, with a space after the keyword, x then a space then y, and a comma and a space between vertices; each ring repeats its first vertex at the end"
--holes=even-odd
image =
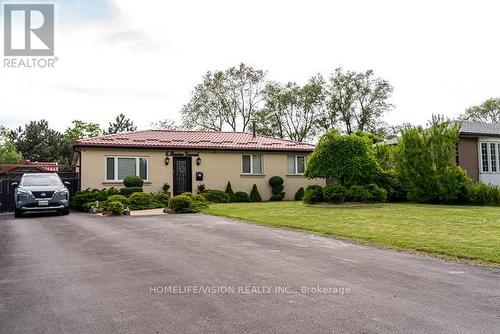
POLYGON ((3 216, 0 332, 499 333, 500 270, 203 215, 3 216))

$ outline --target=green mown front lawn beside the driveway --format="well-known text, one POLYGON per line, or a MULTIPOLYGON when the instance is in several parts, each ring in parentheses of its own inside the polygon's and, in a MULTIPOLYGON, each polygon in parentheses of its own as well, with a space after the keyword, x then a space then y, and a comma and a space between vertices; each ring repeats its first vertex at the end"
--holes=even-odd
POLYGON ((500 265, 500 208, 418 204, 214 204, 205 213, 500 265))

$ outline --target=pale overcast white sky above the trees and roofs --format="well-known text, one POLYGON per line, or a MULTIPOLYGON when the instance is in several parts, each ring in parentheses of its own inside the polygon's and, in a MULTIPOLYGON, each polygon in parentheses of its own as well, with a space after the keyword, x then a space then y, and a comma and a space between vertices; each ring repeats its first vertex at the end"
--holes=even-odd
POLYGON ((0 69, 0 123, 46 118, 62 130, 123 112, 146 128, 178 119, 204 72, 239 62, 300 82, 339 66, 374 69, 395 86, 392 123, 456 116, 500 95, 493 1, 117 0, 104 9, 80 20, 61 11, 72 19, 58 25, 55 69, 0 69))

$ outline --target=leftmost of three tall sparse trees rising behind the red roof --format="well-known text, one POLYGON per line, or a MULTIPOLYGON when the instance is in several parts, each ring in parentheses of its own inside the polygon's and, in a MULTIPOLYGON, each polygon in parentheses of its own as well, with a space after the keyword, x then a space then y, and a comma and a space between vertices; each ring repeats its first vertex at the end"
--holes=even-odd
POLYGON ((207 72, 181 109, 186 128, 246 131, 262 105, 264 71, 245 64, 207 72))

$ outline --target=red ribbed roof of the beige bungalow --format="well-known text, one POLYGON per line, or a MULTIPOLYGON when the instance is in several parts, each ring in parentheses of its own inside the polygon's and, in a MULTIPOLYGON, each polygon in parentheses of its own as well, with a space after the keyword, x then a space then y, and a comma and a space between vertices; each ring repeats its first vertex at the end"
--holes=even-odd
POLYGON ((146 130, 77 140, 76 147, 310 152, 314 145, 247 132, 146 130))

